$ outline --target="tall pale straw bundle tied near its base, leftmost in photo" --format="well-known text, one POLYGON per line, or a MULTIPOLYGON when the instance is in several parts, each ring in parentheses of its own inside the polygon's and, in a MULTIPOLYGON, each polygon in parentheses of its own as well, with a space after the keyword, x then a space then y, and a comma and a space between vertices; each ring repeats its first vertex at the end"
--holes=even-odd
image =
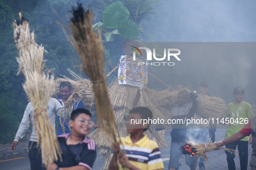
MULTIPOLYGON (((21 20, 21 13, 19 15, 21 20)), ((34 108, 33 128, 37 132, 37 147, 40 146, 42 152, 42 163, 47 165, 58 161, 58 158, 62 161, 61 149, 47 114, 54 77, 49 79, 49 75, 46 76, 42 71, 44 48, 36 44, 34 32, 30 34, 29 22, 26 20, 21 20, 19 25, 16 21, 13 22, 13 28, 15 44, 19 50, 16 60, 19 63, 19 72, 22 71, 26 79, 23 88, 34 108)))

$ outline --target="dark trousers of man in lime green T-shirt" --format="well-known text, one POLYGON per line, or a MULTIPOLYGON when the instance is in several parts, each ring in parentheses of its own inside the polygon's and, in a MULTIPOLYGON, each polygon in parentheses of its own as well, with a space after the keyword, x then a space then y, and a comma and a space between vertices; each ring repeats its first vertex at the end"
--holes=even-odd
MULTIPOLYGON (((236 147, 239 151, 240 157, 240 170, 247 170, 248 165, 248 141, 237 141, 226 145, 226 148, 236 150, 236 147)), ((228 151, 225 151, 227 154, 227 165, 228 170, 236 170, 235 167, 235 154, 231 154, 228 151)))

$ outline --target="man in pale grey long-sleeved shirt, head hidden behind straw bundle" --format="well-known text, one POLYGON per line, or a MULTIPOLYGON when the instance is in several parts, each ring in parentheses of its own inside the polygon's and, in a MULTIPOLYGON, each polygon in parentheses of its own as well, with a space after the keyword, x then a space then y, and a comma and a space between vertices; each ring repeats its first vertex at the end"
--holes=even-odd
MULTIPOLYGON (((24 112, 23 118, 21 120, 21 123, 19 125, 19 129, 16 133, 16 136, 14 137, 14 142, 11 145, 11 150, 14 151, 16 145, 18 142, 23 139, 24 135, 26 135, 26 132, 29 128, 30 120, 33 126, 34 120, 33 120, 33 106, 31 102, 26 107, 26 110, 24 112)), ((53 129, 55 129, 55 117, 60 115, 60 112, 62 110, 62 105, 59 103, 59 101, 55 98, 49 98, 48 101, 48 107, 47 107, 47 114, 52 122, 53 129)), ((65 110, 62 110, 62 117, 65 116, 65 110)), ((66 110, 66 117, 68 118, 69 114, 66 110)), ((55 133, 55 130, 54 130, 55 133)), ((42 170, 42 157, 41 152, 38 151, 38 148, 36 148, 37 144, 37 131, 36 129, 32 128, 32 133, 29 140, 29 161, 30 161, 30 168, 31 170, 42 170)))

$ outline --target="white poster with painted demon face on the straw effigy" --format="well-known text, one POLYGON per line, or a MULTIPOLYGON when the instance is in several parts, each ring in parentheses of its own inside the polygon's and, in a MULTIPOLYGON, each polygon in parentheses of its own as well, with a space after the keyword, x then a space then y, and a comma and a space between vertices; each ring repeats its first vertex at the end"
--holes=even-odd
POLYGON ((134 61, 132 56, 121 56, 120 62, 122 63, 118 68, 119 85, 146 87, 148 82, 148 66, 142 64, 147 63, 144 58, 136 57, 134 61))

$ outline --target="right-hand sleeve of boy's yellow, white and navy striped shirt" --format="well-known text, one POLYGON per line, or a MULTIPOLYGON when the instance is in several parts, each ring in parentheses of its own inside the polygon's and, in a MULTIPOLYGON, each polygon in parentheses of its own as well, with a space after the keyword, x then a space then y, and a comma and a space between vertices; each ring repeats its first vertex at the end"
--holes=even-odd
POLYGON ((148 170, 163 170, 164 164, 159 147, 152 150, 149 154, 148 170))

